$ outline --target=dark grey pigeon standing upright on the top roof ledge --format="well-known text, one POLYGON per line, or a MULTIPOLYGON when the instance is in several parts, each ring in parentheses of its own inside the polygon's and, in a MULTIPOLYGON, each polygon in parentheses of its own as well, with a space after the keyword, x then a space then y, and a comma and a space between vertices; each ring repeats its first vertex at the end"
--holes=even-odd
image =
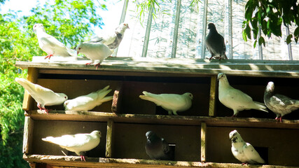
POLYGON ((208 29, 209 34, 206 38, 206 46, 211 53, 211 57, 209 58, 209 60, 211 60, 213 57, 216 57, 219 60, 228 59, 228 57, 226 57, 225 55, 226 48, 223 36, 221 36, 221 34, 218 34, 213 23, 209 23, 208 29))

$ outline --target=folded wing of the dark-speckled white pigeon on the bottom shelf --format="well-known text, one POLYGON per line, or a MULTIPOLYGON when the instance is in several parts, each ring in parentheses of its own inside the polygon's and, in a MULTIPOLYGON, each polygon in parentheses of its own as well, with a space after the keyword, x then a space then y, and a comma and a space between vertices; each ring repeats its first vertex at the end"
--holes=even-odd
POLYGON ((256 151, 256 149, 251 146, 251 144, 246 143, 243 146, 244 155, 246 155, 246 158, 248 158, 249 163, 265 163, 265 160, 263 158, 260 158, 260 155, 256 151))

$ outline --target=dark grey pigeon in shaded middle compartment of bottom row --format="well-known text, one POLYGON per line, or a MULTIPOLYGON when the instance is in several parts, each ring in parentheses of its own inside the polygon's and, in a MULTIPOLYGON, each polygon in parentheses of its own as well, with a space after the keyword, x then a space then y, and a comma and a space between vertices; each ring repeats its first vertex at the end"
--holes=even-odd
POLYGON ((153 160, 174 160, 174 151, 165 139, 152 131, 146 132, 146 153, 153 160))

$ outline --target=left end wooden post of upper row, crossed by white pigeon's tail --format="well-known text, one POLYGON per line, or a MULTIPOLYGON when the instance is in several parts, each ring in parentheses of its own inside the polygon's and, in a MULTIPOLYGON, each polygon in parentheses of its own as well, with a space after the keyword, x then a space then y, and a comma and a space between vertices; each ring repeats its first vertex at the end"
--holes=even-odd
MULTIPOLYGON (((29 67, 27 80, 29 80, 32 83, 36 83, 38 74, 39 73, 38 73, 37 68, 29 67)), ((30 94, 27 92, 27 90, 25 90, 23 106, 22 106, 23 110, 29 111, 31 109, 33 102, 34 102, 34 99, 30 96, 30 94)))

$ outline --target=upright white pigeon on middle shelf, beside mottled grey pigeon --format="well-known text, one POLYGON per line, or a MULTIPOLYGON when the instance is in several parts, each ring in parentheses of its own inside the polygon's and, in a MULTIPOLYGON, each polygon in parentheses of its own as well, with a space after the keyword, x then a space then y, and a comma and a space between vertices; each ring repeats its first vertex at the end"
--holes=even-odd
POLYGON ((232 117, 237 116, 239 111, 249 109, 256 109, 268 113, 265 104, 254 102, 249 95, 245 94, 241 90, 231 87, 225 73, 219 73, 217 79, 219 80, 218 99, 224 106, 234 111, 232 117))

